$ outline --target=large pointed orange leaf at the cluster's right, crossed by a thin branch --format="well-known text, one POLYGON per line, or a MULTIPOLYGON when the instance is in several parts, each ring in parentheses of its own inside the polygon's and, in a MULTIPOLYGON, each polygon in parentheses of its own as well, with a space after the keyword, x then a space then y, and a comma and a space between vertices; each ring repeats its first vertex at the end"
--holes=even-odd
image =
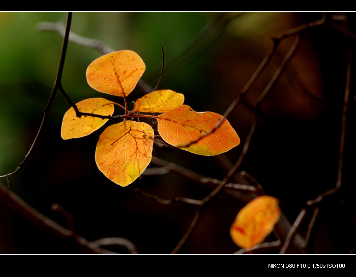
POLYGON ((240 144, 240 138, 230 123, 213 112, 197 113, 189 106, 183 105, 158 115, 157 120, 158 132, 166 143, 194 154, 214 156, 240 144), (221 120, 224 122, 219 128, 202 137, 213 130, 221 120))

